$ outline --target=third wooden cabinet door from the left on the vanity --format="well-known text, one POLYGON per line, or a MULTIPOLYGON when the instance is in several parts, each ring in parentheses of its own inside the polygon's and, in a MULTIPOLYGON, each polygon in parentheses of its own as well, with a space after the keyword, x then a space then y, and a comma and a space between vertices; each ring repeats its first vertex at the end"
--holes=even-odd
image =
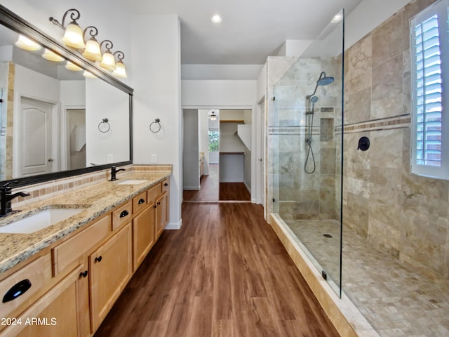
POLYGON ((142 260, 154 244, 154 204, 133 218, 133 270, 137 270, 142 260))

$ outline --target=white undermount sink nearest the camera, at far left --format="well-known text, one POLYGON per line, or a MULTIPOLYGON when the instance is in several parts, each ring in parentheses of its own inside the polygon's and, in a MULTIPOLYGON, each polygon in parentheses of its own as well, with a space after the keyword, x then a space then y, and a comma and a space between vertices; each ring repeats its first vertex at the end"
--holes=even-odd
POLYGON ((55 225, 55 223, 66 220, 81 211, 84 211, 84 209, 43 209, 38 213, 33 213, 13 223, 8 223, 8 225, 0 226, 0 233, 29 234, 55 225))

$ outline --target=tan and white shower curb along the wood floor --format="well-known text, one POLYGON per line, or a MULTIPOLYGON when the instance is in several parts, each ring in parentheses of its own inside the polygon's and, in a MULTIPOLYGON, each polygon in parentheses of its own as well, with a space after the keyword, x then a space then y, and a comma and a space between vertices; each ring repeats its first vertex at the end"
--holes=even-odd
POLYGON ((323 279, 321 273, 296 242, 294 234, 290 232, 285 223, 273 213, 269 214, 268 223, 276 232, 288 255, 309 284, 321 308, 326 312, 338 333, 345 337, 379 337, 377 331, 344 293, 342 293, 342 298, 338 298, 335 291, 323 279))

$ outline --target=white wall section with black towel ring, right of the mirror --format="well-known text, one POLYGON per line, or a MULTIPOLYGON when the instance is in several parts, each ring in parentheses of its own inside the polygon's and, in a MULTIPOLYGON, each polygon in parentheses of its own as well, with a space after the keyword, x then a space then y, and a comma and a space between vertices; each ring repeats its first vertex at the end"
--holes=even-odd
POLYGON ((135 164, 173 164, 170 177, 169 228, 181 225, 182 112, 180 107, 180 22, 177 15, 132 18, 131 86, 134 88, 133 149, 135 164), (145 43, 142 43, 145 41, 145 43), (149 124, 161 119, 161 131, 149 124))

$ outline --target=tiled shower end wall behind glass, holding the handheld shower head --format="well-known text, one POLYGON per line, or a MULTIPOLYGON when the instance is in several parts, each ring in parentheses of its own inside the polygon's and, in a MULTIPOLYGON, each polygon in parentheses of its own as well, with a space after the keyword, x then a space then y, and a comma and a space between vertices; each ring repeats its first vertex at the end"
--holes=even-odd
MULTIPOLYGON (((275 100, 269 124, 272 174, 276 181, 276 201, 284 220, 335 219, 340 211, 336 199, 335 124, 341 125, 341 62, 337 59, 300 59, 274 87, 275 100), (314 91, 322 71, 335 77, 335 83, 319 86, 315 105, 312 148, 316 170, 304 172, 308 147, 305 97, 314 91), (339 76, 340 75, 340 76, 339 76)), ((309 154, 307 168, 313 169, 309 154)), ((340 199, 340 198, 339 198, 340 199)))

